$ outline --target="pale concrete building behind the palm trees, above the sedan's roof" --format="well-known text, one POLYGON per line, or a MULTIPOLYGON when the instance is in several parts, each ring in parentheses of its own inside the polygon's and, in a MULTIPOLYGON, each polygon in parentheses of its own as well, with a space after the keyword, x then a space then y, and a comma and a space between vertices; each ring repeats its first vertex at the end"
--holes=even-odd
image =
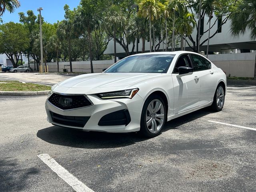
MULTIPOLYGON (((214 23, 214 21, 216 20, 216 16, 213 16, 211 22, 212 24, 214 23)), ((218 24, 220 24, 222 22, 222 20, 224 20, 225 18, 219 18, 216 21, 216 24, 212 27, 212 29, 210 30, 210 36, 212 36, 216 30, 218 29, 218 24)), ((211 26, 212 26, 211 24, 211 26)), ((204 22, 202 22, 204 31, 208 30, 209 25, 208 25, 208 17, 205 17, 204 22)), ((194 32, 192 33, 192 37, 194 40, 196 40, 196 33, 197 31, 194 30, 194 32)), ((201 38, 201 42, 203 42, 204 40, 206 40, 208 38, 208 32, 206 32, 202 38, 201 38)), ((180 40, 180 38, 179 38, 180 40)), ((188 38, 187 38, 188 40, 188 38)), ((190 42, 190 40, 188 40, 189 44, 192 45, 192 43, 190 42)), ((156 42, 156 44, 158 43, 158 40, 156 42)), ((149 52, 149 42, 146 40, 145 42, 145 51, 149 52)), ((136 45, 135 45, 136 46, 136 45)), ((159 51, 162 51, 162 43, 160 44, 160 48, 159 51)), ((165 48, 165 44, 164 44, 164 48, 165 48)), ((200 51, 204 51, 206 54, 206 48, 207 48, 207 41, 200 47, 200 51)), ((230 53, 230 50, 233 49, 240 49, 238 50, 238 52, 250 52, 250 50, 256 50, 256 40, 250 40, 250 33, 245 33, 244 35, 240 35, 239 38, 235 38, 232 37, 230 35, 230 21, 228 20, 224 25, 222 25, 222 27, 220 28, 220 30, 218 30, 218 33, 210 39, 210 43, 209 43, 209 54, 213 54, 213 52, 220 52, 220 53, 230 53)), ((129 45, 129 50, 132 50, 132 44, 129 45)), ((136 51, 136 47, 134 49, 136 51)), ((138 51, 141 52, 142 50, 142 40, 140 39, 139 44, 138 44, 138 51)), ((168 47, 168 51, 171 50, 171 47, 168 47)), ((176 46, 175 50, 180 50, 180 43, 178 44, 178 46, 176 46)), ((192 50, 188 44, 186 43, 186 50, 192 50)), ((117 56, 119 58, 123 58, 126 56, 123 48, 116 43, 116 52, 117 52, 117 56)), ((231 51, 231 53, 233 53, 231 51)), ((234 51, 234 53, 237 53, 237 51, 234 51)), ((104 54, 110 54, 110 55, 114 55, 114 41, 111 40, 108 44, 108 48, 106 49, 106 51, 104 52, 104 54)))

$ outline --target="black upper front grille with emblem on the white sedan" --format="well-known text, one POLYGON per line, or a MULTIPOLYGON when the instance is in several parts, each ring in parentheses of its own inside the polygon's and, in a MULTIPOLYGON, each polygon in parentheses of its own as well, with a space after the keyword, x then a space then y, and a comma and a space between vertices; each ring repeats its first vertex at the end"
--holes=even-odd
POLYGON ((48 101, 62 110, 76 109, 92 105, 90 100, 84 95, 61 95, 53 93, 48 98, 48 101))

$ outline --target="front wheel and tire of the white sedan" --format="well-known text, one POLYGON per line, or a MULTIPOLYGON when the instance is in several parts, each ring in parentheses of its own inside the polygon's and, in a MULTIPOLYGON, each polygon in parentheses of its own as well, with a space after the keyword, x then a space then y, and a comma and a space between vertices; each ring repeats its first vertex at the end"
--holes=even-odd
POLYGON ((164 100, 159 95, 150 95, 142 108, 140 134, 144 137, 150 138, 158 136, 164 127, 165 121, 166 106, 164 104, 164 100), (158 106, 158 109, 155 109, 156 106, 158 106))

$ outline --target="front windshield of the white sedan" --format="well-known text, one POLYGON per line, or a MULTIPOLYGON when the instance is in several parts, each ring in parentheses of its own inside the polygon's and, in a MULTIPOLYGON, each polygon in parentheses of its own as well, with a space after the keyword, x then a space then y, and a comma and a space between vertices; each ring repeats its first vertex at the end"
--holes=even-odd
POLYGON ((174 58, 168 54, 137 55, 124 58, 105 73, 166 73, 174 58))

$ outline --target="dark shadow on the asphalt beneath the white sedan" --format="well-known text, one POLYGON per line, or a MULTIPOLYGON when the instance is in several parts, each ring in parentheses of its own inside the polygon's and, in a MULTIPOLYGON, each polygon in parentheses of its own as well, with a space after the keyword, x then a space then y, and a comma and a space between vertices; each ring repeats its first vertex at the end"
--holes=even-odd
MULTIPOLYGON (((198 110, 167 122, 163 132, 212 113, 208 108, 198 110)), ((83 132, 72 128, 50 126, 38 130, 36 136, 48 143, 75 148, 118 148, 148 140, 138 133, 83 132)))

